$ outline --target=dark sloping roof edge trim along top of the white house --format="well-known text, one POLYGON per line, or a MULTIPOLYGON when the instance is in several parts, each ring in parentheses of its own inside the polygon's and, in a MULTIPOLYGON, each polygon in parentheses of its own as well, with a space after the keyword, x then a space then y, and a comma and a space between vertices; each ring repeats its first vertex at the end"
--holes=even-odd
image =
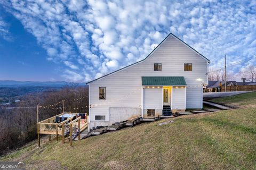
POLYGON ((200 54, 199 52, 197 52, 197 50, 195 50, 194 48, 190 47, 187 43, 185 43, 184 41, 182 41, 180 38, 178 38, 177 36, 175 36, 173 33, 169 33, 169 35, 167 35, 167 36, 161 41, 161 43, 158 44, 158 46, 157 46, 156 48, 154 48, 154 49, 149 53, 149 55, 148 55, 146 58, 144 58, 143 60, 138 61, 138 62, 135 62, 135 63, 130 64, 130 65, 127 65, 127 66, 125 66, 125 67, 123 67, 123 68, 121 68, 121 69, 118 69, 118 70, 114 71, 114 72, 111 72, 111 73, 108 73, 108 74, 106 74, 106 75, 103 75, 102 77, 97 78, 97 79, 94 79, 94 80, 92 80, 92 81, 89 81, 89 82, 87 82, 86 84, 89 84, 89 83, 91 83, 91 82, 93 82, 93 81, 96 81, 96 80, 99 80, 99 79, 101 79, 101 78, 104 78, 104 77, 106 77, 106 76, 108 76, 108 75, 110 75, 110 74, 114 74, 114 73, 116 73, 116 72, 118 72, 118 71, 121 71, 121 70, 123 70, 123 69, 126 69, 127 67, 130 67, 130 66, 135 65, 135 64, 138 64, 138 63, 140 63, 140 62, 142 62, 142 61, 145 61, 145 60, 146 60, 151 54, 153 54, 153 53, 155 52, 155 50, 156 50, 159 46, 161 46, 161 45, 163 44, 163 42, 164 42, 168 37, 170 37, 171 35, 172 35, 173 37, 177 38, 178 40, 180 40, 182 43, 184 43, 185 45, 187 45, 187 46, 188 46, 189 48, 191 48, 192 50, 194 50, 194 52, 196 52, 199 56, 203 57, 206 61, 210 62, 209 59, 207 59, 205 56, 203 56, 202 54, 200 54))

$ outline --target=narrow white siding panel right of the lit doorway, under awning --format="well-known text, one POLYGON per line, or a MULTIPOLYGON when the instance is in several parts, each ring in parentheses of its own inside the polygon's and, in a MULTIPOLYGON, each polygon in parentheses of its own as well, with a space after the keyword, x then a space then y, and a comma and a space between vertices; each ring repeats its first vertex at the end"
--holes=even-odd
POLYGON ((172 109, 186 109, 186 88, 172 88, 172 109))

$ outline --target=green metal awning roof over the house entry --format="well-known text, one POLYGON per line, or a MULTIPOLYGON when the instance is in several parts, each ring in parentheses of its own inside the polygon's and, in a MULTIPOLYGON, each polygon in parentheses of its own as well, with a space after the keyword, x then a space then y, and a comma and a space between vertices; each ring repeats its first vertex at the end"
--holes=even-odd
POLYGON ((141 77, 142 86, 186 86, 184 77, 141 77))

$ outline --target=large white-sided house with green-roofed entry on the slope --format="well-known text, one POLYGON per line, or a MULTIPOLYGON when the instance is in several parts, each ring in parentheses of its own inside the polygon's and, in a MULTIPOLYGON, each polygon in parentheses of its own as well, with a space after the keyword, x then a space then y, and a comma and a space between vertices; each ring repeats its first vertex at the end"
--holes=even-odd
POLYGON ((89 127, 202 108, 209 63, 170 33, 144 60, 87 83, 89 127))

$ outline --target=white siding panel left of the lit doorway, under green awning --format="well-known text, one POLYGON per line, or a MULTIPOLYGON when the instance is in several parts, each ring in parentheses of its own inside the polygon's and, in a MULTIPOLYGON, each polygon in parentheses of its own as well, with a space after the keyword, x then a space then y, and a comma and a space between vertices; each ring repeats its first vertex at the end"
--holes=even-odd
POLYGON ((162 88, 144 89, 144 109, 162 109, 162 88))

